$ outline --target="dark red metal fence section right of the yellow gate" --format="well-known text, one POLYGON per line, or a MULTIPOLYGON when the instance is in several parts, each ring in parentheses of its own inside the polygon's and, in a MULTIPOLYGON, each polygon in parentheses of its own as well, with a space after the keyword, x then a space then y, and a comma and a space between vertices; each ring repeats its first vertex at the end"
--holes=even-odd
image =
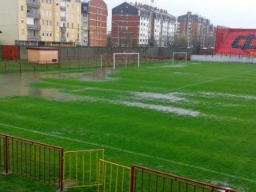
POLYGON ((235 192, 142 166, 132 166, 130 192, 235 192))

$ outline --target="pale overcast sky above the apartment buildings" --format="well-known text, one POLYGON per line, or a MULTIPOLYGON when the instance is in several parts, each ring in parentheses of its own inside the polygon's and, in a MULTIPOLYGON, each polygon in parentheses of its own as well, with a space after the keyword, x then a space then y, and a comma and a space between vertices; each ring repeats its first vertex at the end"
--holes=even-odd
MULTIPOLYGON (((109 7, 108 30, 110 30, 112 8, 125 0, 105 0, 105 2, 109 7)), ((137 2, 145 3, 146 0, 137 2)), ((147 2, 150 3, 151 0, 147 2)), ((167 9, 175 17, 190 10, 194 14, 209 18, 214 26, 256 29, 256 0, 154 0, 154 6, 167 9)))

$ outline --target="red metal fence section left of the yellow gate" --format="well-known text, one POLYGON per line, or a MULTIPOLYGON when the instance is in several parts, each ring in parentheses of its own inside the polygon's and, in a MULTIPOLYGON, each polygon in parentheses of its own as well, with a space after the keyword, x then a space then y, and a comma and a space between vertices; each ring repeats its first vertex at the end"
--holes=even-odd
POLYGON ((63 153, 58 146, 0 134, 0 167, 4 174, 18 174, 63 189, 63 153))

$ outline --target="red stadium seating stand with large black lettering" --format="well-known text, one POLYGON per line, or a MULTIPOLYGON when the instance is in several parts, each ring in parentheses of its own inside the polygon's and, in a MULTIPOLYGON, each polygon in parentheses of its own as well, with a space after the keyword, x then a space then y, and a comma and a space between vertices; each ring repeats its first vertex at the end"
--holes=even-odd
POLYGON ((256 30, 218 26, 215 54, 250 56, 256 53, 256 30))

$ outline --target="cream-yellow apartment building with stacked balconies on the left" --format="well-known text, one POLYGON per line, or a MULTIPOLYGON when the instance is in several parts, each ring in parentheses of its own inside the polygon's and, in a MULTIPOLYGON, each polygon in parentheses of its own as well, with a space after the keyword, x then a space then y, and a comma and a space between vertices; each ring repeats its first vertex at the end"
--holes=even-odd
POLYGON ((81 42, 80 0, 4 1, 0 18, 1 44, 49 46, 81 42))

